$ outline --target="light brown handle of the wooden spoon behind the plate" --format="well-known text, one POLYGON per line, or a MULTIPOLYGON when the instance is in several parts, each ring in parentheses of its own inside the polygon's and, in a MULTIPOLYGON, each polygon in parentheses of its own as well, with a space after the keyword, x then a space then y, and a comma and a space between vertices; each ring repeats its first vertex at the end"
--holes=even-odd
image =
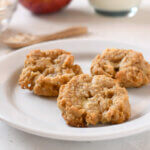
POLYGON ((41 41, 57 40, 83 35, 86 34, 87 32, 88 32, 87 27, 73 27, 54 34, 41 36, 40 39, 41 41))

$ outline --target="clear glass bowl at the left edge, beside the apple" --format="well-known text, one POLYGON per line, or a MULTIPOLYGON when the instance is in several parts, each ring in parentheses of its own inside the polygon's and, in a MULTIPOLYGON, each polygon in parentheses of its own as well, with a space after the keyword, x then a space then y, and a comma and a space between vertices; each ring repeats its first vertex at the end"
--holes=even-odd
POLYGON ((0 32, 8 27, 16 6, 17 0, 0 0, 0 32))

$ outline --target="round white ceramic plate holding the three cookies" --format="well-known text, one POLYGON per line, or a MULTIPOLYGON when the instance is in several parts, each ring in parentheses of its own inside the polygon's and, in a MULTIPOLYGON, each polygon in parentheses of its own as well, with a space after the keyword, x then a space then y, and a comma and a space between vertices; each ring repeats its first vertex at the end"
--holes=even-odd
MULTIPOLYGON (((105 48, 132 48, 135 46, 100 40, 62 40, 47 42, 13 52, 0 60, 0 118, 9 125, 28 133, 63 140, 93 141, 129 136, 150 128, 150 87, 129 89, 132 116, 118 125, 98 125, 74 128, 66 125, 56 105, 55 98, 44 98, 22 90, 18 78, 26 54, 32 49, 61 48, 75 56, 85 73, 89 73, 91 60, 105 48)), ((147 52, 147 53, 146 53, 147 52)), ((147 58, 147 57, 146 57, 147 58)))

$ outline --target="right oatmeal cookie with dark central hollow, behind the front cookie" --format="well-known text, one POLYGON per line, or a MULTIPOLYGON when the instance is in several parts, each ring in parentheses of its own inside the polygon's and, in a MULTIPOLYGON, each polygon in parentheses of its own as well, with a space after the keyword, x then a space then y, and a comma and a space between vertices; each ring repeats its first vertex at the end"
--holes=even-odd
POLYGON ((140 87, 150 83, 150 64, 133 50, 106 49, 91 65, 92 75, 106 75, 124 87, 140 87))

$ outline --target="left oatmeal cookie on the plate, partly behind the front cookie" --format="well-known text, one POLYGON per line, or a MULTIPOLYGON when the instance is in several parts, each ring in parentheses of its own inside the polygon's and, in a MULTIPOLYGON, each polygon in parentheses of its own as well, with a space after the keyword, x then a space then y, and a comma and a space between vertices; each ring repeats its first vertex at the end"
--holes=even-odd
POLYGON ((61 85, 81 73, 80 66, 74 65, 74 57, 69 52, 33 50, 26 57, 19 84, 37 95, 57 96, 61 85))

